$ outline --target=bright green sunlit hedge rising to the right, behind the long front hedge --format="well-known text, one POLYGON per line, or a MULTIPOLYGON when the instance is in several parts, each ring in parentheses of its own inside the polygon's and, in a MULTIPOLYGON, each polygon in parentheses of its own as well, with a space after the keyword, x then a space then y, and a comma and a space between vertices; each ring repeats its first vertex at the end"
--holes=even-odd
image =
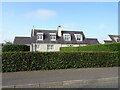
POLYGON ((87 45, 80 47, 61 47, 60 51, 120 51, 120 43, 87 45))

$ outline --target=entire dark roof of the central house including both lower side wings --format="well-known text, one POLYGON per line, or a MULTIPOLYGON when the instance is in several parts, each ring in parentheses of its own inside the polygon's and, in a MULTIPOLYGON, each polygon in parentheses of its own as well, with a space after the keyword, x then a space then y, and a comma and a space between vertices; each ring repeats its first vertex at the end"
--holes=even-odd
POLYGON ((32 36, 33 30, 31 31, 31 37, 15 37, 14 44, 31 44, 31 43, 53 43, 53 44, 99 44, 96 38, 85 38, 82 31, 62 31, 62 36, 58 37, 57 30, 34 30, 34 36, 32 36), (43 33, 43 41, 37 40, 37 33, 43 33), (56 41, 50 40, 49 33, 56 33, 56 41), (71 41, 65 41, 63 33, 71 35, 71 41), (83 41, 77 41, 74 34, 82 34, 83 41))

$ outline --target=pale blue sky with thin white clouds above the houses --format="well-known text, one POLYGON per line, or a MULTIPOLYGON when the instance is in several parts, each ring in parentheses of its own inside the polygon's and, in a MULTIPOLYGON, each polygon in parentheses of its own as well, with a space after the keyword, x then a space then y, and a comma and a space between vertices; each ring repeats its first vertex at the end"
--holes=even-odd
POLYGON ((83 31, 101 43, 118 34, 117 2, 3 2, 2 41, 15 36, 30 37, 36 29, 83 31))

